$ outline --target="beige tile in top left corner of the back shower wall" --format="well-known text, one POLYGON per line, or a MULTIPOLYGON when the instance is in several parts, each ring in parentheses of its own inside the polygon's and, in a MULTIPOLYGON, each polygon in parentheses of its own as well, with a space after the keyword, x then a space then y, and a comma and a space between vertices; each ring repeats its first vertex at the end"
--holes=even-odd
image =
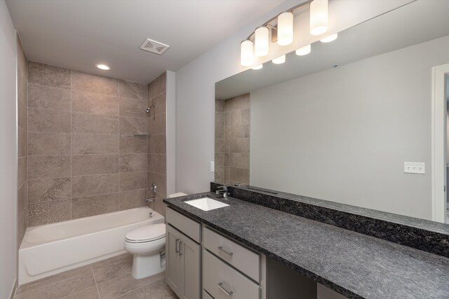
POLYGON ((55 88, 70 88, 70 70, 29 61, 28 83, 55 88))

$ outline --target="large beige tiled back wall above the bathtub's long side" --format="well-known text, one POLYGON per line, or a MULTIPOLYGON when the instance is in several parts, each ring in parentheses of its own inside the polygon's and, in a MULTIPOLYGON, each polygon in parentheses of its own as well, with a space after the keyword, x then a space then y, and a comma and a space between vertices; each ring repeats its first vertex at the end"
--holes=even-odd
POLYGON ((147 84, 28 62, 27 226, 145 205, 147 84))

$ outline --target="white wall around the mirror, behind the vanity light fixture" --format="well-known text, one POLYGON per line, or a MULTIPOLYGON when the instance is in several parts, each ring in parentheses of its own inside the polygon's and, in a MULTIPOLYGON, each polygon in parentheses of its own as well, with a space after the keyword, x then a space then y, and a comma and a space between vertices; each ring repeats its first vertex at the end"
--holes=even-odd
MULTIPOLYGON (((213 181, 209 163, 214 159, 215 82, 244 70, 240 66, 240 42, 265 21, 302 2, 304 0, 286 1, 176 72, 177 192, 203 192, 213 181)), ((340 32, 407 2, 410 1, 333 0, 329 8, 330 32, 340 32)), ((308 27, 303 26, 302 29, 308 30, 308 27)), ((305 36, 301 32, 298 35, 305 36)), ((305 45, 305 40, 302 43, 305 45)), ((283 52, 272 51, 265 61, 290 52, 293 50, 291 47, 304 45, 295 41, 293 46, 283 48, 283 52)), ((279 50, 276 46, 274 48, 279 50)))

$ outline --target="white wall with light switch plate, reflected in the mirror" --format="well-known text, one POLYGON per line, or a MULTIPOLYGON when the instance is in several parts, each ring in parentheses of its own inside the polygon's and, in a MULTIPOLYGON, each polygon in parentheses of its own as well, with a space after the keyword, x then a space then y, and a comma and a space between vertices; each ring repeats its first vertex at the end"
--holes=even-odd
POLYGON ((445 36, 252 92, 251 185, 431 220, 431 67, 448 48, 445 36))

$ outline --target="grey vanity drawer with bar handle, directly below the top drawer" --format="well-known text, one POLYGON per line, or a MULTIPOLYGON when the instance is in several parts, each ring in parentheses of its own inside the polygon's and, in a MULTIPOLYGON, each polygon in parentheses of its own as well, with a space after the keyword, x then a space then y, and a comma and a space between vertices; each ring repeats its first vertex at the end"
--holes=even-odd
POLYGON ((260 286, 203 250, 203 288, 215 299, 259 299, 260 286))

